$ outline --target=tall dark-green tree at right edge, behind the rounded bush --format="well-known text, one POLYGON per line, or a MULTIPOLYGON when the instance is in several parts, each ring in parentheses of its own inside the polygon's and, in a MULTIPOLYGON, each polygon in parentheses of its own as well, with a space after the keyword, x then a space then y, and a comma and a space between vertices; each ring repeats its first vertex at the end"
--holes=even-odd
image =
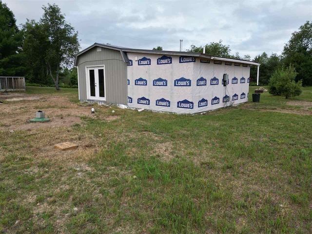
POLYGON ((298 72, 296 80, 302 80, 303 85, 312 85, 312 21, 292 33, 282 55, 285 66, 293 64, 298 72))

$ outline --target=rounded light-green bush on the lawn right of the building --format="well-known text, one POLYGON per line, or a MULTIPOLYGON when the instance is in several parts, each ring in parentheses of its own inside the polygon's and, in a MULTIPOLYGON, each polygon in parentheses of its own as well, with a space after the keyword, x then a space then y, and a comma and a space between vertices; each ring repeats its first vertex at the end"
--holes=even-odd
POLYGON ((295 82, 297 72, 291 64, 289 67, 275 70, 270 78, 269 93, 290 98, 302 92, 302 81, 295 82))

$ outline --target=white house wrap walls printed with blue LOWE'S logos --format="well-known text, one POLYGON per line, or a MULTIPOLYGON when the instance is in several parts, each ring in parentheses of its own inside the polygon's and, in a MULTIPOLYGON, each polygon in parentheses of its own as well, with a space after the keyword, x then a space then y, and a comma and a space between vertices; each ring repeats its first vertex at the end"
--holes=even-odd
POLYGON ((240 66, 234 66, 234 62, 231 65, 225 65, 224 61, 221 64, 214 64, 214 60, 210 60, 210 63, 202 63, 199 58, 195 58, 195 62, 190 59, 191 62, 181 63, 179 56, 168 56, 171 57, 171 63, 157 64, 157 59, 161 57, 162 55, 128 53, 128 58, 132 60, 132 66, 127 67, 130 82, 128 85, 129 107, 192 114, 248 101, 249 65, 243 67, 240 63, 240 66), (151 59, 150 65, 138 65, 138 61, 135 61, 136 56, 138 59, 143 57, 151 59), (222 84, 223 74, 229 75, 227 87, 222 84), (234 77, 238 79, 236 84, 232 84, 234 77), (245 78, 245 83, 240 83, 242 77, 245 78), (153 82, 158 78, 166 80, 167 85, 156 86, 153 82), (185 78, 186 84, 191 81, 191 86, 175 86, 175 80, 180 78, 185 78), (199 78, 206 80, 201 83, 204 85, 197 85, 199 78), (218 84, 212 85, 211 79, 217 79, 218 84), (138 85, 145 84, 145 82, 146 85, 138 85), (235 94, 238 98, 233 100, 235 94), (245 98, 242 94, 245 94, 245 98), (229 101, 223 102, 226 95, 229 96, 229 101), (215 101, 217 98, 219 101, 215 101), (144 100, 146 100, 145 104, 143 104, 144 100), (159 104, 159 100, 167 104, 170 101, 170 106, 156 105, 157 101, 159 104), (200 100, 202 101, 199 104, 200 100), (184 101, 183 105, 181 101, 184 101))

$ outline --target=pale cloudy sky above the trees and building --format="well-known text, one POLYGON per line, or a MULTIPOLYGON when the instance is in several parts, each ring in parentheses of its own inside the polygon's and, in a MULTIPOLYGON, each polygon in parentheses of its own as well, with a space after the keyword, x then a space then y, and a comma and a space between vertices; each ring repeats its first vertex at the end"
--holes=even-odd
POLYGON ((78 31, 81 49, 95 42, 183 50, 210 42, 232 54, 280 54, 293 31, 312 20, 312 0, 2 0, 17 23, 39 20, 56 3, 78 31))

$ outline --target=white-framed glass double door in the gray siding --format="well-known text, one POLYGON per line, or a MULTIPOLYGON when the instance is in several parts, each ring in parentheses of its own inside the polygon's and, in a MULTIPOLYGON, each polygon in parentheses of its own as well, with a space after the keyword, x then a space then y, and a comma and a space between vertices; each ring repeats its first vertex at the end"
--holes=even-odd
POLYGON ((88 99, 106 101, 105 66, 86 67, 88 99))

